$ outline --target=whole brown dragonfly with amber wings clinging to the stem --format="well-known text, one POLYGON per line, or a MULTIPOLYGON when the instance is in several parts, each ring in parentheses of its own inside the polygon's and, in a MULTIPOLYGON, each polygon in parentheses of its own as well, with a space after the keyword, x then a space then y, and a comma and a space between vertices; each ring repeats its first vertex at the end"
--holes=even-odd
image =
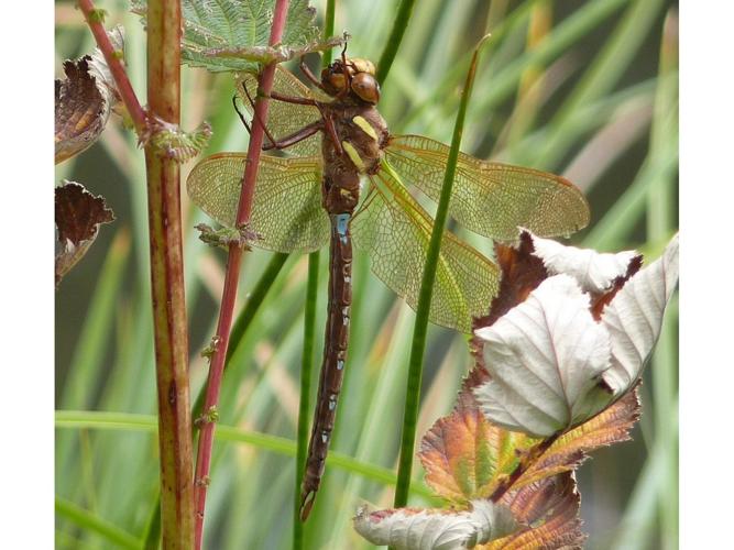
MULTIPOLYGON (((352 244, 415 309, 434 224, 418 194, 438 201, 449 147, 423 135, 390 133, 376 108, 372 62, 342 52, 320 78, 303 59, 300 69, 310 87, 281 66, 275 72, 263 150, 283 153, 261 156, 248 229, 256 234, 254 246, 275 252, 308 253, 329 244, 324 355, 300 495, 305 521, 324 475, 347 362, 352 244)), ((253 112, 256 75, 241 74, 237 84, 253 112)), ((187 180, 194 202, 226 227, 235 222, 245 158, 211 155, 187 180)), ((518 227, 555 237, 589 222, 583 195, 567 179, 463 153, 449 213, 463 228, 500 241, 515 241, 518 227)), ((472 318, 486 315, 499 292, 497 265, 447 230, 436 270, 429 320, 470 333, 472 318)))

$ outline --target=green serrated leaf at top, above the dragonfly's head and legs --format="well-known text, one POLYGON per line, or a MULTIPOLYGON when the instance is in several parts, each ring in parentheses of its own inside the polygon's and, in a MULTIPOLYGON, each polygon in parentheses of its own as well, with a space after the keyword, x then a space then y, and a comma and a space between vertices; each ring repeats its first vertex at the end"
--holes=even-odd
MULTIPOLYGON (((289 59, 338 43, 338 38, 320 40, 316 10, 308 0, 292 0, 283 40, 269 47, 274 4, 274 0, 184 0, 183 62, 215 73, 256 73, 260 63, 289 59)), ((133 1, 132 11, 144 19, 146 2, 133 1)))

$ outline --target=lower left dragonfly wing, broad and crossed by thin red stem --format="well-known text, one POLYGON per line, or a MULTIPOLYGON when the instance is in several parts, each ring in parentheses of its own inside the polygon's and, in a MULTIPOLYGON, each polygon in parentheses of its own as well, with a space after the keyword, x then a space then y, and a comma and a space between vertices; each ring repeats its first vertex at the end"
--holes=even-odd
MULTIPOLYGON (((233 227, 240 199, 244 153, 220 153, 197 164, 188 176, 189 197, 222 226, 233 227)), ((321 160, 260 157, 250 227, 253 244, 276 252, 311 252, 329 241, 329 217, 321 207, 321 160)))

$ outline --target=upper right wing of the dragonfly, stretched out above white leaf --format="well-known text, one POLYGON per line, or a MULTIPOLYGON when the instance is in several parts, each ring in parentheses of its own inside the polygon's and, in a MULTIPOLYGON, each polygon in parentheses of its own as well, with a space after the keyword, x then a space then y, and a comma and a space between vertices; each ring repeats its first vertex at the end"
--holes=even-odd
MULTIPOLYGON (((438 201, 449 147, 421 135, 393 135, 386 158, 406 184, 438 201)), ((522 226, 544 237, 568 235, 589 223, 589 205, 567 179, 459 154, 450 206, 467 229, 503 241, 522 226)))

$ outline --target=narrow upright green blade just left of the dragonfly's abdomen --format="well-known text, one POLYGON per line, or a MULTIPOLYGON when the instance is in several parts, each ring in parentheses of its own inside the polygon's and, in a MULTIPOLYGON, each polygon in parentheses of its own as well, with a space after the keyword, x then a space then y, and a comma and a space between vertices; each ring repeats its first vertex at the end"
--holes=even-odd
POLYGON ((306 289, 306 311, 304 314, 304 351, 300 362, 300 398, 298 402, 296 487, 294 492, 293 510, 294 550, 304 547, 304 524, 300 520, 300 483, 304 477, 306 452, 308 450, 308 419, 310 415, 309 397, 311 392, 311 371, 314 370, 319 256, 320 254, 318 251, 308 255, 308 286, 306 289))

